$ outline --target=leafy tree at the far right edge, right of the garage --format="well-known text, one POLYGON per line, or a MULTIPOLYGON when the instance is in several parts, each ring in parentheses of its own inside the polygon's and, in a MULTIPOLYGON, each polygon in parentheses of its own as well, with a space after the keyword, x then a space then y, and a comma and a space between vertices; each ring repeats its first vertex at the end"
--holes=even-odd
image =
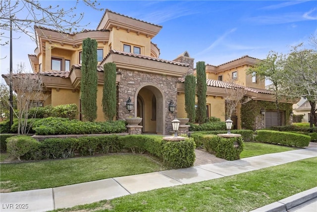
POLYGON ((317 51, 302 47, 293 47, 285 58, 281 92, 292 98, 307 98, 311 105, 310 127, 317 127, 317 51))

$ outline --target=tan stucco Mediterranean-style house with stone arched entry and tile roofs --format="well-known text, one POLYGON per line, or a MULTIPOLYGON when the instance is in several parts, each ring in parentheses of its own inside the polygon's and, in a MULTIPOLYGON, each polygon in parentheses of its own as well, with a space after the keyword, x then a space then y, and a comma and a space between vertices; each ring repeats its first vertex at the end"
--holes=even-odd
MULTIPOLYGON (((34 77, 39 74, 44 86, 46 98, 42 100, 42 105, 75 103, 80 109, 82 42, 89 37, 98 42, 97 121, 104 120, 103 66, 112 62, 117 68, 116 119, 142 117, 142 132, 168 134, 175 116, 187 117, 184 78, 186 74, 195 74, 196 71, 194 59, 187 51, 173 61, 159 59, 159 48, 151 39, 161 28, 110 10, 106 10, 95 30, 65 34, 35 26, 37 47, 29 59, 34 72, 31 74, 34 77), (129 98, 134 104, 130 112, 126 108, 129 98), (168 109, 171 100, 176 105, 174 113, 168 109)), ((246 103, 238 105, 231 117, 236 129, 262 129, 289 123, 292 104, 276 111, 271 106, 274 96, 271 91, 265 90, 264 80, 259 80, 256 73, 246 74, 246 70, 256 61, 255 58, 243 56, 220 66, 206 65, 208 117, 214 116, 224 121, 228 89, 240 89, 245 92, 246 103), (248 107, 253 109, 253 115, 250 115, 250 111, 243 112, 248 107), (278 113, 281 115, 277 116, 278 113)), ((9 75, 2 74, 2 77, 9 84, 9 75)), ((81 116, 78 118, 81 119, 81 116)))

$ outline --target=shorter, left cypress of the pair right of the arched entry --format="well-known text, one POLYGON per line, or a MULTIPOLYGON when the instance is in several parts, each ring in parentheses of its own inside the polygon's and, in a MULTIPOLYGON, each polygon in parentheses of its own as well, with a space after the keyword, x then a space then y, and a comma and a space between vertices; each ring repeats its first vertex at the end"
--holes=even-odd
POLYGON ((196 77, 194 75, 185 76, 185 111, 189 122, 195 122, 195 96, 196 96, 196 77))

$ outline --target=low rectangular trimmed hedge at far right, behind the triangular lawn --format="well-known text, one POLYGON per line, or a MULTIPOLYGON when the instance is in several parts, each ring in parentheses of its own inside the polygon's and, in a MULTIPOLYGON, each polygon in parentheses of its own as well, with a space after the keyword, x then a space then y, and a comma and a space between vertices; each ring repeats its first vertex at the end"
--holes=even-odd
POLYGON ((289 132, 277 132, 269 130, 258 130, 256 141, 266 142, 266 143, 275 143, 296 147, 305 147, 309 145, 311 141, 310 136, 289 133, 289 132))

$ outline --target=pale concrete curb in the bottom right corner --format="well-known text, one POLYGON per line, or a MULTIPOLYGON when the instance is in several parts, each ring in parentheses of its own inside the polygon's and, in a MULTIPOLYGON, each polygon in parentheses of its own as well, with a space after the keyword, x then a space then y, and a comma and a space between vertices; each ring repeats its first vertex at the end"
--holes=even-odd
POLYGON ((251 212, 287 212, 301 204, 317 198, 317 187, 279 200, 275 203, 258 208, 251 212))

